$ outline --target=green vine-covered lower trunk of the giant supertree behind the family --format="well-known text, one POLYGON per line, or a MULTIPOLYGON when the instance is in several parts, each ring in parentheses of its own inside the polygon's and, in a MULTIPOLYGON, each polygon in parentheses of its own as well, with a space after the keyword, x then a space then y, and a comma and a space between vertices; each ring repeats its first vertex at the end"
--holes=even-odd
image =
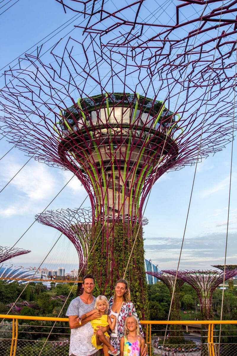
POLYGON ((111 297, 115 283, 118 279, 125 278, 130 284, 131 301, 139 318, 147 316, 147 283, 141 227, 138 224, 133 227, 123 223, 97 224, 91 231, 89 251, 91 249, 87 266, 88 272, 96 278, 94 294, 111 297))

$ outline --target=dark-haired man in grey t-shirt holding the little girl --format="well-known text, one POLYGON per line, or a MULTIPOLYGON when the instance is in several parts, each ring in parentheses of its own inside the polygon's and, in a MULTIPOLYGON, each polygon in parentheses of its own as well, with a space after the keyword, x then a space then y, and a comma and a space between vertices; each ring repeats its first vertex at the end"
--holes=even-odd
MULTIPOLYGON (((83 293, 72 299, 69 304, 66 315, 69 317, 69 326, 71 329, 69 355, 71 356, 100 356, 101 350, 95 349, 91 343, 93 328, 90 320, 98 319, 101 314, 93 313, 88 318, 77 321, 78 316, 90 312, 94 309, 96 298, 92 293, 95 288, 95 278, 92 274, 87 274, 82 282, 83 293)), ((100 327, 103 331, 108 331, 108 327, 100 327)))

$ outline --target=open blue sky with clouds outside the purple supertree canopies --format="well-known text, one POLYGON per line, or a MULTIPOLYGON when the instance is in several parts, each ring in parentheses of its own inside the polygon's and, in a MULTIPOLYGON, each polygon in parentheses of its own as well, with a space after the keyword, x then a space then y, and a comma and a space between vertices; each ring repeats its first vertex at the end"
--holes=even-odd
MULTIPOLYGON (((0 67, 6 66, 38 41, 41 43, 42 38, 73 16, 75 13, 70 11, 65 15, 61 6, 53 0, 18 1, 1 15, 0 67)), ((73 24, 50 40, 45 49, 53 46, 69 31, 73 31, 75 36, 73 24)), ((4 77, 0 80, 3 87, 4 77)), ((11 147, 2 138, 0 156, 11 147)), ((236 263, 237 257, 236 153, 234 141, 227 264, 236 263)), ((0 160, 0 186, 3 187, 27 160, 28 157, 16 148, 7 153, 0 160)), ((231 145, 227 145, 222 152, 198 164, 181 255, 182 269, 210 268, 213 264, 224 263, 230 160, 231 145)), ((48 167, 33 159, 27 163, 0 194, 1 245, 15 244, 34 222, 34 215, 49 204, 71 176, 70 172, 48 167)), ((149 224, 144 227, 145 256, 158 264, 160 269, 177 268, 193 176, 194 167, 185 167, 165 174, 152 188, 144 213, 149 220, 149 224)), ((73 178, 48 209, 77 208, 85 198, 86 193, 81 183, 73 178)), ((88 199, 83 206, 90 206, 88 199)), ((32 252, 17 257, 12 262, 34 262, 35 265, 42 262, 59 236, 60 233, 53 228, 35 223, 17 244, 17 247, 27 248, 32 252)), ((76 268, 75 249, 62 236, 44 265, 55 263, 57 267, 74 261, 76 268)))

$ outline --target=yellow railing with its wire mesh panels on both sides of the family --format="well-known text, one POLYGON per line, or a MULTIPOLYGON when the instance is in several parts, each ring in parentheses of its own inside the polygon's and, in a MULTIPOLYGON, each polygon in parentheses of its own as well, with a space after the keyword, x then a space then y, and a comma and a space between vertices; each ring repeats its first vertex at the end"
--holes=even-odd
MULTIPOLYGON (((0 356, 68 356, 70 341, 68 318, 0 314, 0 319, 0 356)), ((141 324, 149 356, 152 355, 152 348, 153 355, 162 356, 237 355, 237 320, 148 320, 141 321, 141 324), (166 325, 168 329, 165 333, 166 325), (189 327, 192 332, 184 334, 185 341, 181 343, 180 334, 176 336, 175 331, 169 330, 171 325, 182 325, 184 332, 189 327)))

